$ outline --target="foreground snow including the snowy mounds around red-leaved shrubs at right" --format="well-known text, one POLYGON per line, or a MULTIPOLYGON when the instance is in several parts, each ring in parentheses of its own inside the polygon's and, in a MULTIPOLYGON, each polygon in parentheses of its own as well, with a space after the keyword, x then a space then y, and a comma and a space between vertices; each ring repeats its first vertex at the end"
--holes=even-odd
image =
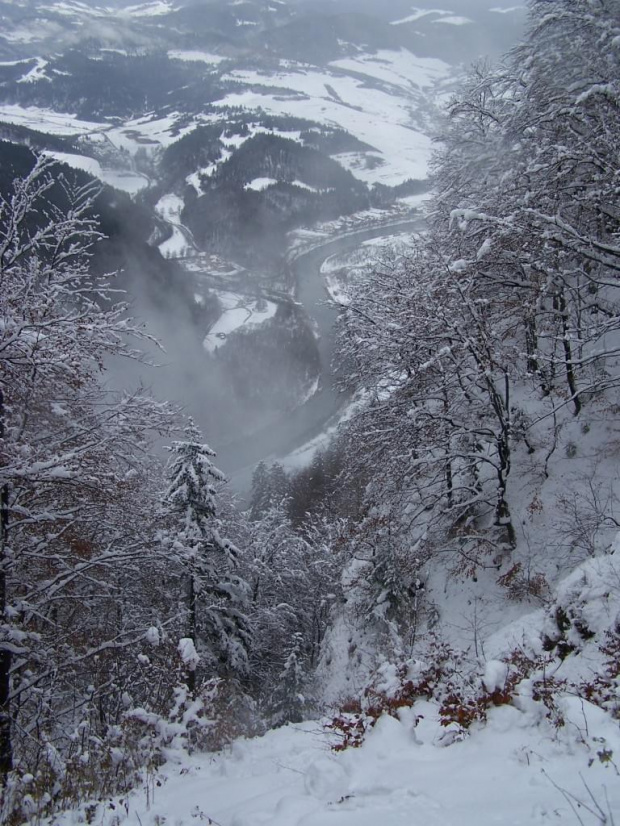
MULTIPOLYGON (((488 708, 463 735, 442 721, 434 701, 380 716, 360 747, 334 750, 342 732, 321 719, 240 738, 217 753, 188 755, 177 737, 168 763, 122 801, 89 807, 98 826, 613 826, 620 818, 620 727, 610 712, 571 690, 571 681, 602 673, 601 644, 620 610, 620 565, 614 551, 589 559, 554 589, 550 620, 562 607, 587 623, 588 635, 567 632, 574 651, 549 658, 547 669, 513 687, 510 701, 488 708), (534 678, 559 683, 554 712, 537 695, 534 678), (615 817, 615 820, 614 820, 615 817)), ((547 621, 548 621, 547 620, 547 621)), ((495 657, 516 650, 537 655, 548 630, 544 610, 525 613, 488 639, 488 649, 469 664, 488 692, 503 690, 509 668, 495 657)), ((346 694, 341 659, 351 661, 346 633, 332 634, 339 651, 320 666, 321 690, 331 677, 346 694)), ((341 628, 342 631, 342 628, 341 628)), ((346 631, 346 629, 345 629, 346 631)), ((470 652, 471 654, 472 652, 470 652)), ((406 679, 415 679, 411 661, 406 679)), ((418 671, 419 673, 419 671, 418 671)), ((397 669, 383 662, 375 688, 396 696, 397 669)), ((617 682, 617 675, 616 675, 617 682)), ((613 684, 613 682, 612 682, 613 684)), ((538 682, 540 692, 541 683, 538 682)), ((378 695, 377 695, 378 696, 378 695)), ((335 699, 336 699, 335 697, 335 699)), ((340 712, 338 712, 340 713, 340 712)), ((368 718, 369 719, 369 718, 368 718)), ((175 731, 182 730, 182 726, 175 731)), ((54 818, 57 826, 84 823, 84 810, 54 818)))

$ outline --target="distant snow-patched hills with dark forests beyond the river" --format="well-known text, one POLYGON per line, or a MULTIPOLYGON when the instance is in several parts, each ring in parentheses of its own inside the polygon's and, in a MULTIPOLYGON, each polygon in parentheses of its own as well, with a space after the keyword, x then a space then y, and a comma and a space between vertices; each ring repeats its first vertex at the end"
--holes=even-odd
POLYGON ((246 250, 267 226, 280 251, 299 223, 389 204, 409 181, 419 190, 451 64, 518 25, 514 8, 460 6, 0 0, 0 133, 144 190, 151 207, 174 194, 206 251, 246 250), (266 157, 297 142, 306 171, 312 158, 332 185, 300 177, 288 151, 292 166, 265 174, 244 149, 254 138, 266 157))

